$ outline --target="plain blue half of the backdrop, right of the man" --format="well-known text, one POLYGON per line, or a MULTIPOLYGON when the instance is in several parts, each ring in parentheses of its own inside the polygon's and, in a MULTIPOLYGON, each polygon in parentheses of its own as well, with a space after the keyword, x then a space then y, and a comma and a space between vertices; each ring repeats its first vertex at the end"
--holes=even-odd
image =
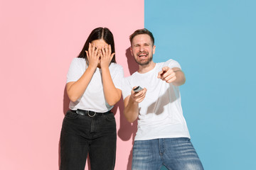
POLYGON ((204 169, 256 169, 256 2, 144 3, 154 62, 186 74, 183 114, 204 169))

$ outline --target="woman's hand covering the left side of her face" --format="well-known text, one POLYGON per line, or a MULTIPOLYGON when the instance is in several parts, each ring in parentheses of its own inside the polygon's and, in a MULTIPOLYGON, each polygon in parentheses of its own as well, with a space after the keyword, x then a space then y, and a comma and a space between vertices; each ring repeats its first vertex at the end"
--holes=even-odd
POLYGON ((97 68, 97 65, 99 64, 99 58, 100 58, 100 52, 98 52, 100 49, 95 46, 95 44, 89 43, 88 51, 86 52, 87 59, 89 62, 88 67, 92 67, 93 69, 97 68))

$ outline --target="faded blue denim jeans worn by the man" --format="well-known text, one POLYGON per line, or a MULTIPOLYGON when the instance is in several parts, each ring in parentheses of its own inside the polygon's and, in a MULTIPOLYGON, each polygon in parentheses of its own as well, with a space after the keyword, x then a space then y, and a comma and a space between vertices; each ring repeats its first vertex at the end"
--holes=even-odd
POLYGON ((196 150, 186 137, 134 141, 132 170, 202 170, 196 150))

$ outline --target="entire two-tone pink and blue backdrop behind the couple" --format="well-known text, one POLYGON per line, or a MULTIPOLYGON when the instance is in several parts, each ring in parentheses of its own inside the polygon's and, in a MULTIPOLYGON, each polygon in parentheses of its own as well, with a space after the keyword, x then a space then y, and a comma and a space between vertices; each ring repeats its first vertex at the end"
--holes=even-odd
MULTIPOLYGON (((129 35, 138 28, 154 34, 154 62, 181 64, 183 114, 205 169, 255 169, 255 7, 253 0, 0 0, 0 169, 58 169, 68 67, 99 26, 112 30, 126 77, 137 69, 129 35)), ((137 130, 123 108, 121 100, 113 110, 117 170, 131 169, 137 130)))

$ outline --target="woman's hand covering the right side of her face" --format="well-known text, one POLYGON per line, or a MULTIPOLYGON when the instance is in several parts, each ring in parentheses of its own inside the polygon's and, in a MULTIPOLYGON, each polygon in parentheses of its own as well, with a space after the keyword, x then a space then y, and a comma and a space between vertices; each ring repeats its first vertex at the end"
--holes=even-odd
POLYGON ((111 54, 111 45, 105 45, 105 48, 102 48, 100 53, 100 67, 109 67, 114 53, 111 54))

